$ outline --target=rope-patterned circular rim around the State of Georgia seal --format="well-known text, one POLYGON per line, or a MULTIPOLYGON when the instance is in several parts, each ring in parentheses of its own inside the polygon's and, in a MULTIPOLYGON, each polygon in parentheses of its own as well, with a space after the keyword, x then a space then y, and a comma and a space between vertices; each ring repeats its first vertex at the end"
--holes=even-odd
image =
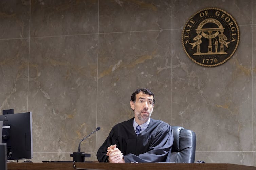
POLYGON ((187 54, 187 56, 188 56, 194 63, 196 63, 196 64, 198 64, 198 65, 201 65, 201 66, 205 66, 205 67, 215 67, 215 66, 219 66, 219 65, 225 63, 225 62, 226 62, 228 59, 230 59, 230 58, 233 56, 233 54, 236 52, 237 47, 238 47, 238 44, 239 44, 239 40, 240 40, 240 31, 239 31, 239 27, 238 27, 238 25, 237 25, 236 20, 235 20, 229 13, 227 13, 226 11, 224 11, 223 9, 220 9, 220 8, 204 8, 204 9, 201 9, 201 10, 197 11, 195 14, 193 14, 193 15, 187 20, 187 22, 186 22, 186 24, 185 24, 185 26, 184 26, 184 28, 183 28, 183 30, 182 30, 182 46, 183 46, 183 49, 184 49, 185 53, 187 54), (224 61, 222 61, 222 62, 220 62, 220 63, 217 63, 217 64, 212 64, 212 65, 202 64, 202 63, 199 63, 199 62, 197 62, 196 60, 194 60, 194 59, 188 54, 188 52, 187 52, 187 50, 186 50, 186 48, 185 48, 185 45, 184 45, 184 36, 183 36, 183 35, 184 35, 184 32, 185 32, 185 27, 186 27, 186 25, 189 23, 189 21, 190 21, 195 15, 197 15, 198 13, 201 13, 202 11, 205 11, 205 10, 219 10, 219 11, 225 13, 226 15, 228 15, 228 16, 234 21, 234 24, 236 25, 236 28, 237 28, 237 43, 236 43, 236 46, 235 46, 233 52, 232 52, 232 53, 230 54, 230 56, 228 56, 224 61))

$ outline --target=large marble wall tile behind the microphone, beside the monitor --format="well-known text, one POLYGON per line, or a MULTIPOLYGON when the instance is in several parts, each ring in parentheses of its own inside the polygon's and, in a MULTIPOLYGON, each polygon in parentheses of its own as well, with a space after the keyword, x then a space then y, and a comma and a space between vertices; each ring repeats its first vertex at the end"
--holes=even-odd
MULTIPOLYGON (((97 35, 30 42, 29 109, 35 152, 74 152, 96 129, 97 35)), ((81 151, 95 151, 96 136, 81 151)))

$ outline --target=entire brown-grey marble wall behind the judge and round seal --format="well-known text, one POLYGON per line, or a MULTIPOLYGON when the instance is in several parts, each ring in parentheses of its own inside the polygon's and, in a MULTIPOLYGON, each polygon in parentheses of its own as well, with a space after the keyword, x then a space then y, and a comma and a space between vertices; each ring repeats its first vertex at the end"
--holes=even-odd
POLYGON ((0 108, 32 111, 33 162, 95 161, 111 127, 133 117, 130 96, 156 95, 152 118, 196 132, 196 160, 256 166, 254 0, 5 0, 0 2, 0 108), (237 21, 226 63, 202 67, 181 35, 207 7, 237 21))

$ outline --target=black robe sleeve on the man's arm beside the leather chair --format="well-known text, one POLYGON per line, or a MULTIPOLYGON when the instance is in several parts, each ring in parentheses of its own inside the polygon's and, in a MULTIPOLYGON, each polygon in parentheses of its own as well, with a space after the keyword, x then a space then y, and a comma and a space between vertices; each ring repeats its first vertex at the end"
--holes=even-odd
POLYGON ((151 141, 149 151, 138 156, 127 154, 124 157, 125 162, 165 162, 166 157, 171 151, 173 144, 172 128, 169 124, 163 125, 157 130, 151 141))

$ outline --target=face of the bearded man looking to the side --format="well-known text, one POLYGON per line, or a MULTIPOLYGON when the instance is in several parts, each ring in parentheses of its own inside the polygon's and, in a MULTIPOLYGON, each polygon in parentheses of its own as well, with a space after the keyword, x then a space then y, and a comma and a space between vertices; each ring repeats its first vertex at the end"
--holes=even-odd
POLYGON ((136 94, 135 103, 133 101, 130 102, 131 108, 134 110, 135 121, 141 125, 148 121, 150 118, 153 109, 153 96, 144 94, 140 92, 136 94))

